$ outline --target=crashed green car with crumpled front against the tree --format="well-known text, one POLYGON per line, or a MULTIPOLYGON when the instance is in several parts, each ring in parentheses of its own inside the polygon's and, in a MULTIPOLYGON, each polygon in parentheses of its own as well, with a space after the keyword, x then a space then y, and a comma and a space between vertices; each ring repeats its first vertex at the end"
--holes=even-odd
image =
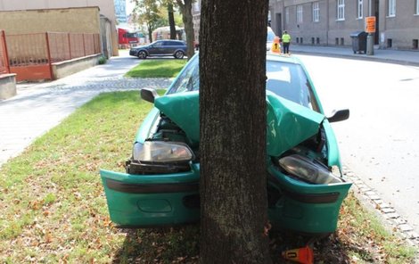
MULTIPOLYGON (((119 227, 160 227, 200 220, 199 58, 163 96, 140 91, 154 108, 137 131, 126 172, 100 171, 111 220, 119 227)), ((307 70, 295 57, 267 55, 268 216, 276 229, 333 232, 351 183, 307 70)))

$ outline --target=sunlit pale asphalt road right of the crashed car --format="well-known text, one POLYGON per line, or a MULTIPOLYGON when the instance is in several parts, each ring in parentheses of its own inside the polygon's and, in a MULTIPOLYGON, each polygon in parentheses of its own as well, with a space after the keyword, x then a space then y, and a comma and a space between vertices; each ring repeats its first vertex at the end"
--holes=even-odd
POLYGON ((419 67, 299 55, 333 123, 343 164, 419 232, 419 67))

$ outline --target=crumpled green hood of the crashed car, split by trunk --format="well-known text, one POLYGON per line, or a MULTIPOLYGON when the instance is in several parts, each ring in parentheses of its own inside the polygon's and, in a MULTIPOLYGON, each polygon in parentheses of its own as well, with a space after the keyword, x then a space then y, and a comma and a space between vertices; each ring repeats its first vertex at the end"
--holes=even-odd
MULTIPOLYGON (((200 141, 199 92, 158 97, 154 106, 193 142, 200 141)), ((279 156, 318 133, 325 116, 267 91, 267 154, 279 156)))

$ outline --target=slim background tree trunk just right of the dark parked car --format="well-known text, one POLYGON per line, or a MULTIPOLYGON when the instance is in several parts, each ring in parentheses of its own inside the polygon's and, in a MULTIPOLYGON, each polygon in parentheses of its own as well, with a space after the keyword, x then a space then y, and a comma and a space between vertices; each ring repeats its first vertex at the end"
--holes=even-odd
POLYGON ((185 34, 186 34, 186 45, 187 45, 187 57, 190 60, 195 54, 193 40, 195 39, 193 31, 193 16, 192 16, 192 2, 193 0, 177 0, 180 12, 182 13, 182 21, 184 21, 185 34))

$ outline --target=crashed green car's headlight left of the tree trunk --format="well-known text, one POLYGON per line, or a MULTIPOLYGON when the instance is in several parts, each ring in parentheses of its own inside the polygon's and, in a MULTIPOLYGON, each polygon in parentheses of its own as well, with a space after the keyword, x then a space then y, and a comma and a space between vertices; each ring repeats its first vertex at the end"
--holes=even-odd
POLYGON ((194 155, 187 144, 146 141, 144 144, 137 142, 133 148, 133 159, 144 162, 179 162, 191 161, 194 155))

